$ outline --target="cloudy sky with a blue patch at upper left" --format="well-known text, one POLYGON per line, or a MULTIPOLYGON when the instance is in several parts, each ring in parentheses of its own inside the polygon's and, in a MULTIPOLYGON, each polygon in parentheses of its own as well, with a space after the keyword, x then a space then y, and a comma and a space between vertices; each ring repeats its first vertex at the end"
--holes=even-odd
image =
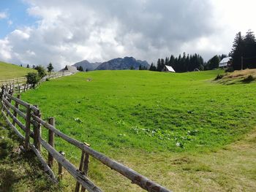
POLYGON ((0 0, 0 61, 56 69, 133 56, 228 54, 255 0, 0 0))

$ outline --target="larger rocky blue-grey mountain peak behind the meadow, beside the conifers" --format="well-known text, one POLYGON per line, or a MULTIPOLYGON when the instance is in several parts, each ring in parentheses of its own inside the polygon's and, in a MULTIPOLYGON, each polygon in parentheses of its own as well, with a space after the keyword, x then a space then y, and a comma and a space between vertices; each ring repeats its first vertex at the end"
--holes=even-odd
POLYGON ((110 61, 100 64, 95 70, 122 70, 122 69, 139 69, 140 66, 149 68, 147 61, 136 60, 133 57, 113 58, 110 61))

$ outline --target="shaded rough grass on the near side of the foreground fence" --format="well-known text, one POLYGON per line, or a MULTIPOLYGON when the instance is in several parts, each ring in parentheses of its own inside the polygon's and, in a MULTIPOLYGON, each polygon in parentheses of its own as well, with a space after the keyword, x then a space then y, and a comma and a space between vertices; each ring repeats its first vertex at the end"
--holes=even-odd
POLYGON ((0 191, 60 191, 48 180, 34 153, 21 153, 22 142, 6 129, 0 115, 0 191))

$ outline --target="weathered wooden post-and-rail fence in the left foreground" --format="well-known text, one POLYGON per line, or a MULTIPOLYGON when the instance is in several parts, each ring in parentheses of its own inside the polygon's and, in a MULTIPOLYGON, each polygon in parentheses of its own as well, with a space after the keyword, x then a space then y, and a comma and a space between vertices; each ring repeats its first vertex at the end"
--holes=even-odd
POLYGON ((54 182, 58 182, 58 180, 61 179, 63 174, 62 167, 64 167, 64 169, 66 169, 67 172, 69 172, 69 174, 71 174, 72 177, 74 177, 77 181, 75 191, 85 191, 86 189, 88 191, 102 191, 87 177, 89 169, 89 157, 91 156, 102 164, 108 166, 110 169, 113 169, 116 172, 124 175, 124 177, 127 177, 127 179, 131 180, 132 183, 139 185, 140 188, 143 188, 146 191, 169 191, 167 188, 164 188, 161 185, 148 180, 148 178, 144 177, 138 172, 135 172, 129 167, 113 161, 106 155, 93 150, 88 144, 79 142, 78 140, 72 139, 66 134, 63 134, 56 128, 54 118, 49 118, 48 122, 42 120, 40 110, 37 106, 31 105, 26 101, 21 100, 20 95, 17 97, 13 96, 12 93, 12 91, 8 91, 8 88, 2 88, 1 113, 7 120, 7 123, 12 128, 12 130, 15 131, 20 139, 25 141, 25 149, 31 149, 34 151, 34 153, 39 158, 39 161, 44 166, 45 172, 48 173, 54 182), (21 106, 26 109, 26 112, 20 109, 21 106), (23 118, 25 123, 22 123, 19 118, 23 118), (17 126, 23 130, 25 135, 18 131, 17 126), (48 142, 41 137, 42 128, 48 129, 48 142), (74 145, 81 150, 79 168, 76 168, 75 165, 70 163, 67 158, 65 158, 63 152, 58 152, 55 149, 55 135, 58 135, 61 139, 64 139, 65 141, 69 142, 69 144, 74 145), (31 142, 31 138, 33 139, 33 142, 31 142), (48 161, 45 161, 45 158, 42 156, 41 147, 44 147, 48 151, 48 161), (52 170, 53 159, 55 159, 59 165, 58 177, 55 176, 52 170))

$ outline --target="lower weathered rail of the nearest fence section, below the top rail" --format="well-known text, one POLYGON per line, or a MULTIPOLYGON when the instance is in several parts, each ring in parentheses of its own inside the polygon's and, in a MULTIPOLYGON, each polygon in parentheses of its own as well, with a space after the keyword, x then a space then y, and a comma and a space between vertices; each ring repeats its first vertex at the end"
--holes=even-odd
POLYGON ((73 177, 75 177, 78 182, 83 185, 88 191, 94 192, 94 191, 101 191, 100 188, 98 188, 94 183, 91 182, 87 177, 84 177, 83 174, 80 173, 78 169, 75 168, 73 164, 71 164, 69 161, 67 161, 66 158, 64 158, 62 155, 59 154, 58 151, 56 151, 52 146, 48 144, 48 142, 45 142, 44 139, 40 138, 40 142, 43 147, 45 147, 48 152, 53 155, 53 158, 56 159, 64 168, 71 174, 73 177))

